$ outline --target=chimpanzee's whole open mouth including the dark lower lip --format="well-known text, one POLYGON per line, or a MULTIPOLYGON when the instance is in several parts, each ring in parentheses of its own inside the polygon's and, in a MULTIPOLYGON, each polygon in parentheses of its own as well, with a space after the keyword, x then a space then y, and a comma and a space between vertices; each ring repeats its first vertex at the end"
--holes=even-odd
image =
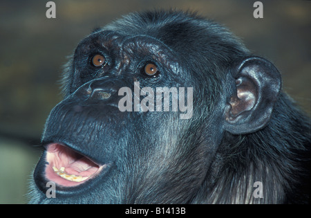
POLYGON ((95 163, 92 158, 77 152, 64 143, 48 143, 35 169, 35 183, 46 192, 46 183, 53 181, 59 194, 86 190, 102 179, 112 163, 95 163))

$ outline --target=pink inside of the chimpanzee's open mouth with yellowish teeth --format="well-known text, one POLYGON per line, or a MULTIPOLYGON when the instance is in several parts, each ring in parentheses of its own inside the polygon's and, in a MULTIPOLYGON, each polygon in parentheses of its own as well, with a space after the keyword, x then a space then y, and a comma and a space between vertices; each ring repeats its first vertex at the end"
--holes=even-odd
POLYGON ((46 151, 46 179, 57 185, 80 185, 106 167, 106 164, 97 165, 86 156, 58 143, 47 145, 46 151))

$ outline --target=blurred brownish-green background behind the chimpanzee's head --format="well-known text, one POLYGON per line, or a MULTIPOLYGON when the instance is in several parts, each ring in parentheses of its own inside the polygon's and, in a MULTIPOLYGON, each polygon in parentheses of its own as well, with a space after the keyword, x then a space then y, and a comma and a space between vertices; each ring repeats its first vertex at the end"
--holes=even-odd
POLYGON ((0 1, 0 203, 26 203, 44 122, 62 100, 59 76, 66 56, 93 28, 137 10, 196 10, 241 37, 256 55, 274 62, 283 89, 310 112, 311 1, 54 1, 56 19, 46 18, 48 1, 0 1))

